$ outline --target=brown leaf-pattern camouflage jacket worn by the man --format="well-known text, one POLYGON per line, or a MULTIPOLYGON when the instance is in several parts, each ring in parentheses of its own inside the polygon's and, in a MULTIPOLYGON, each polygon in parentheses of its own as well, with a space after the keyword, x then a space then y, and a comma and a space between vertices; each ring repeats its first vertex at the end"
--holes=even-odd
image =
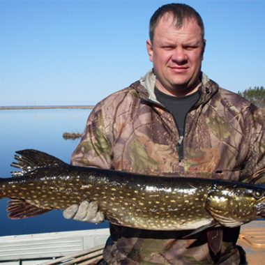
MULTIPOLYGON (((202 73, 200 99, 185 120, 183 159, 172 114, 156 100, 156 76, 113 93, 94 107, 72 164, 159 176, 234 181, 259 179, 265 167, 262 113, 241 96, 221 89, 202 73), (258 173, 257 173, 258 172, 258 173)), ((108 264, 239 264, 239 228, 224 229, 222 249, 213 255, 202 232, 153 232, 110 225, 104 258, 108 264)))

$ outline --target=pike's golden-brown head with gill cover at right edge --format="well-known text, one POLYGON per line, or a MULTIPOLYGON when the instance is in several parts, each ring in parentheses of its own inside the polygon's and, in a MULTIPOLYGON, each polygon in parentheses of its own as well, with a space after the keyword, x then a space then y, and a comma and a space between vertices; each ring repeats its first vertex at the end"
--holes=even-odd
POLYGON ((215 185, 209 192, 206 211, 225 227, 237 227, 265 218, 265 186, 215 185))

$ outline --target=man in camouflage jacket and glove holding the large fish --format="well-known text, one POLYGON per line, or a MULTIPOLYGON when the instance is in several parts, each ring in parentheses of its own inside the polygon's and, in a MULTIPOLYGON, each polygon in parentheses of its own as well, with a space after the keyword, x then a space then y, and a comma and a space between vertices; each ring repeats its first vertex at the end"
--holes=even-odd
MULTIPOLYGON (((201 72, 204 24, 190 6, 172 3, 150 21, 146 47, 153 69, 102 100, 91 112, 73 165, 159 176, 253 181, 265 167, 259 109, 201 72), (258 172, 258 173, 257 173, 258 172), (256 174, 255 174, 256 173, 256 174)), ((95 202, 66 218, 102 222, 95 202)), ((107 264, 239 264, 239 227, 160 232, 110 225, 107 264), (209 232, 210 231, 210 232, 209 232)))

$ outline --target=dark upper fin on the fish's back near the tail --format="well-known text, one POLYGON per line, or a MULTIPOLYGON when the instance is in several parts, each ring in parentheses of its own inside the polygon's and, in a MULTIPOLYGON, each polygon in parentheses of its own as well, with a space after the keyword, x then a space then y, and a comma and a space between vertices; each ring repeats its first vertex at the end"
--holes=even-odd
POLYGON ((13 162, 11 166, 20 168, 22 171, 11 172, 14 177, 24 176, 24 174, 40 167, 62 167, 68 165, 54 156, 33 149, 25 149, 16 153, 19 155, 14 157, 17 162, 13 162))

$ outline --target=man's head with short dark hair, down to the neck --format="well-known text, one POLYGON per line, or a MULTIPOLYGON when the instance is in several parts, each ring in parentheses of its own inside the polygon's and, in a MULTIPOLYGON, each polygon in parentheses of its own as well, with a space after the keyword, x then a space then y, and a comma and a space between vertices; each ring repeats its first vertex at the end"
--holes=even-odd
POLYGON ((149 35, 147 50, 158 89, 174 96, 195 92, 205 48, 199 14, 185 4, 162 6, 151 17, 149 35))

